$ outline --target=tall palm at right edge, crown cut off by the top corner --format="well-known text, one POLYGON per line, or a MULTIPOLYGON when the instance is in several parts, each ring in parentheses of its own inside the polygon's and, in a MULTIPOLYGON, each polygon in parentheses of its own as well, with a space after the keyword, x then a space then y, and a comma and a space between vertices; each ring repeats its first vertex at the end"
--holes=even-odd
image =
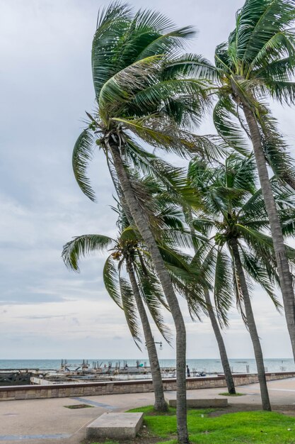
MULTIPOLYGON (((214 82, 218 102, 214 123, 232 148, 244 154, 250 137, 267 214, 270 219, 287 328, 295 358, 294 289, 274 202, 267 162, 282 181, 295 189, 294 164, 267 99, 295 103, 295 1, 246 0, 236 14, 236 28, 216 47, 215 66, 202 57, 180 57, 183 72, 214 82), (241 111, 244 118, 241 116, 241 111), (243 132, 242 132, 243 133, 243 132)), ((176 69, 175 67, 173 69, 176 69)))

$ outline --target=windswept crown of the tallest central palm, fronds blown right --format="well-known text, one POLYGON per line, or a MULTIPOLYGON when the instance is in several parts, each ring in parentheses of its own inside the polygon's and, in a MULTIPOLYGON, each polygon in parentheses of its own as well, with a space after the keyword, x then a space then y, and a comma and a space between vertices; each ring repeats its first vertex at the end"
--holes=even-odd
POLYGON ((73 152, 77 182, 90 199, 94 194, 86 167, 95 143, 110 156, 108 141, 119 138, 128 161, 132 158, 137 166, 144 162, 154 170, 158 165, 139 146, 138 137, 179 155, 198 151, 207 157, 218 155, 214 138, 185 130, 192 121, 199 122, 209 101, 203 82, 183 77, 177 68, 175 57, 194 34, 191 27, 176 29, 154 11, 134 15, 125 5, 111 4, 100 14, 92 54, 98 109, 93 116, 87 113, 89 128, 81 133, 73 152), (175 70, 170 73, 174 59, 175 70))

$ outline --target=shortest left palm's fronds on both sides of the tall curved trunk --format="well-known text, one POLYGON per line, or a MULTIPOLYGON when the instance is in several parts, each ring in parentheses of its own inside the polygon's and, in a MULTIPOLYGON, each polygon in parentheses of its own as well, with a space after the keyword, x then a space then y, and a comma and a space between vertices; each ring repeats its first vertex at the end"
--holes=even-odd
MULTIPOLYGON (((184 216, 174 196, 167 194, 151 177, 140 178, 138 174, 130 173, 132 181, 136 178, 137 185, 141 186, 143 196, 146 198, 146 208, 150 211, 151 222, 158 230, 158 248, 165 261, 175 290, 190 302, 192 316, 199 316, 199 311, 206 308, 202 290, 204 279, 199 279, 197 272, 190 268, 190 256, 180 251, 180 248, 192 248, 204 243, 206 238, 202 235, 192 237, 183 225, 184 216), (161 235, 160 235, 161 233, 161 235), (197 281, 197 286, 196 286, 197 281)), ((132 182, 134 183, 134 182, 132 182)), ((141 298, 151 312, 151 316, 163 337, 170 343, 170 332, 163 324, 160 308, 168 309, 161 284, 154 273, 153 263, 146 246, 141 240, 139 232, 129 225, 129 220, 117 201, 112 207, 117 213, 117 227, 119 236, 112 239, 105 235, 88 234, 75 237, 64 245, 62 257, 66 267, 79 272, 79 260, 91 252, 110 251, 103 267, 103 281, 110 297, 125 311, 129 330, 135 343, 140 348, 139 325, 137 313, 134 310, 134 296, 129 292, 125 274, 127 263, 132 263, 141 298), (156 296, 156 299, 155 299, 156 296), (125 306, 127 303, 127 306, 125 306)))

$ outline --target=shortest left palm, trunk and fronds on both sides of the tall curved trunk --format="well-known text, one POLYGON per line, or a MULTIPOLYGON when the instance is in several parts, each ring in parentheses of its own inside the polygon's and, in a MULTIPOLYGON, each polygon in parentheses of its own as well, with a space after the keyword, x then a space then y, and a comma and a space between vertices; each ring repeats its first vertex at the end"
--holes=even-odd
MULTIPOLYGON (((141 187, 141 192, 148 201, 146 202, 147 209, 149 207, 153 209, 153 211, 147 211, 150 223, 156 224, 161 229, 162 240, 158 248, 170 273, 175 291, 187 299, 191 310, 198 316, 199 310, 204 309, 204 301, 202 301, 202 295, 199 294, 199 288, 192 288, 191 285, 192 279, 197 278, 196 274, 191 272, 187 256, 176 251, 180 246, 191 247, 192 239, 190 233, 187 233, 183 227, 183 214, 175 203, 175 196, 168 195, 166 189, 152 177, 140 178, 139 174, 132 174, 131 172, 129 174, 133 179, 133 184, 135 183, 134 179, 137 179, 137 187, 141 187), (165 240, 165 243, 163 243, 163 240, 165 240)), ((168 306, 161 290, 161 284, 155 276, 149 252, 142 243, 137 229, 134 228, 134 225, 129 225, 129 218, 123 211, 122 203, 117 201, 117 208, 112 207, 112 209, 118 214, 117 227, 120 233, 116 240, 98 234, 77 236, 64 245, 62 257, 70 270, 79 272, 81 257, 101 250, 112 251, 103 268, 105 288, 115 303, 124 310, 129 331, 140 348, 139 343, 141 341, 136 311, 134 310, 134 306, 137 306, 151 363, 155 393, 154 409, 156 411, 167 411, 168 406, 163 396, 163 384, 156 346, 142 300, 148 306, 163 338, 170 343, 170 332, 163 324, 160 312, 161 305, 166 309, 168 309, 168 306), (126 279, 122 277, 122 269, 129 276, 131 288, 126 279)), ((197 236, 195 238, 197 239, 197 236)))

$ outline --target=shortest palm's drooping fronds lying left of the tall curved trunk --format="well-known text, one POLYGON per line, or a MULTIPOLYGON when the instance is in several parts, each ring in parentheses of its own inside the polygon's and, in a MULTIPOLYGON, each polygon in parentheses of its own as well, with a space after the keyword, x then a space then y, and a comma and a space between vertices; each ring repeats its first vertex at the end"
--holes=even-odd
POLYGON ((91 252, 107 250, 110 255, 103 267, 103 282, 112 300, 123 309, 129 331, 140 349, 140 328, 134 294, 127 282, 126 262, 131 260, 139 280, 141 298, 151 312, 158 330, 170 342, 170 333, 163 323, 161 307, 166 305, 161 286, 150 269, 150 262, 139 243, 138 235, 133 228, 127 227, 117 239, 99 234, 87 234, 75 237, 64 245, 62 257, 70 270, 79 272, 79 260, 91 252), (144 252, 144 254, 142 254, 144 252))

